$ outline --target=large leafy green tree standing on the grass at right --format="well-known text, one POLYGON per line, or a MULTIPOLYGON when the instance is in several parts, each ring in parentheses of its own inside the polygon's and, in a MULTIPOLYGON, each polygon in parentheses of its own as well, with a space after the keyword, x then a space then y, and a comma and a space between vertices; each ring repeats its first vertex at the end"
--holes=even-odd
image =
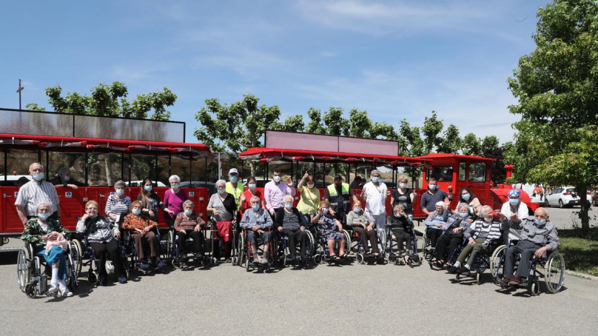
MULTIPOLYGON (((509 106, 521 115, 514 124, 516 143, 509 151, 517 170, 514 181, 550 178, 553 185, 575 185, 585 195, 585 172, 571 176, 541 174, 547 158, 562 158, 573 152, 573 143, 582 143, 581 127, 596 125, 598 120, 598 4, 590 0, 555 0, 538 10, 538 24, 533 39, 536 49, 519 59, 509 88, 518 99, 509 106), (514 153, 515 151, 518 151, 514 153), (528 176, 529 172, 535 172, 528 176), (576 178, 575 176, 578 176, 576 178)), ((576 150, 581 155, 583 148, 576 150)), ((588 154, 589 155, 589 154, 588 154)), ((557 166, 558 167, 558 166, 557 166)), ((583 167, 579 164, 577 167, 583 167)), ((582 228, 589 228, 585 198, 579 216, 582 228)))

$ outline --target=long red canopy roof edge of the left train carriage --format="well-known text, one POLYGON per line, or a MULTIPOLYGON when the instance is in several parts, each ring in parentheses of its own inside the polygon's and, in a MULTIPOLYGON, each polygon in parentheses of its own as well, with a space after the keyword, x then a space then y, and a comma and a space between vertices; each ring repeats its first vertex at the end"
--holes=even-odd
POLYGON ((66 136, 35 136, 0 133, 0 148, 21 147, 68 152, 126 152, 141 155, 181 155, 184 157, 212 156, 203 143, 158 142, 145 140, 118 140, 72 138, 66 136))

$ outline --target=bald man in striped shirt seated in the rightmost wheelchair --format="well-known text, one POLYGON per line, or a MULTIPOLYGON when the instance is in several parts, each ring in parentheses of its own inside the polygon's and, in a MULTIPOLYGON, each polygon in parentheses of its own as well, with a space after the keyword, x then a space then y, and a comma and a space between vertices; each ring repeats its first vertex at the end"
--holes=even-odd
POLYGON ((509 246, 505 253, 505 271, 501 280, 505 285, 518 286, 526 281, 529 263, 533 257, 541 258, 547 251, 559 248, 559 236, 554 224, 548 221, 548 212, 544 207, 536 209, 533 217, 522 218, 521 221, 513 221, 504 215, 501 215, 501 221, 506 230, 521 230, 520 240, 517 244, 509 246), (515 257, 520 253, 517 272, 513 274, 515 257))

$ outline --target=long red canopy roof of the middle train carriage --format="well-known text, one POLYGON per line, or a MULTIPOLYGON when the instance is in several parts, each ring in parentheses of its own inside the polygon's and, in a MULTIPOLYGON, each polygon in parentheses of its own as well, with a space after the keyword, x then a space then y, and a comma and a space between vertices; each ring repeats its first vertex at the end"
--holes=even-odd
POLYGON ((391 155, 372 155, 343 152, 305 151, 281 148, 249 148, 239 154, 239 160, 270 161, 303 161, 316 163, 350 163, 357 165, 419 167, 428 163, 426 158, 412 158, 391 155))

